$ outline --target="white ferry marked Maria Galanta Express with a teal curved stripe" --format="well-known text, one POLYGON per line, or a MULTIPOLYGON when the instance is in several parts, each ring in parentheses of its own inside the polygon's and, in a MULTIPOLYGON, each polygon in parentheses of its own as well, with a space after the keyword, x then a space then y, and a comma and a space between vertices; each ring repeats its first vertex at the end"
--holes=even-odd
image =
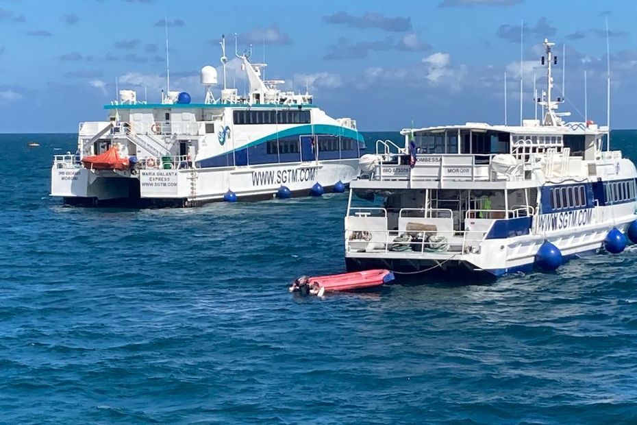
POLYGON ((79 125, 77 152, 55 156, 51 195, 67 204, 192 206, 345 191, 365 149, 355 121, 329 117, 307 92, 279 90, 282 80, 263 80, 266 64, 248 52, 236 52, 249 82, 240 97, 226 88, 224 38, 221 47, 220 97, 212 66, 201 69, 203 104, 169 89, 161 104, 147 104, 120 90, 106 121, 79 125))

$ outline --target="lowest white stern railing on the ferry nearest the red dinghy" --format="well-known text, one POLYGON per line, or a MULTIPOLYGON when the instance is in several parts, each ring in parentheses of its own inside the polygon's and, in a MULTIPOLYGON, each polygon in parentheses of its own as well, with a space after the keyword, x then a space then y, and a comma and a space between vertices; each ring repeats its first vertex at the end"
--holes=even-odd
POLYGON ((347 252, 369 252, 373 254, 477 254, 484 241, 484 232, 436 230, 369 230, 348 229, 345 231, 347 252), (409 236, 409 237, 408 237, 409 236))

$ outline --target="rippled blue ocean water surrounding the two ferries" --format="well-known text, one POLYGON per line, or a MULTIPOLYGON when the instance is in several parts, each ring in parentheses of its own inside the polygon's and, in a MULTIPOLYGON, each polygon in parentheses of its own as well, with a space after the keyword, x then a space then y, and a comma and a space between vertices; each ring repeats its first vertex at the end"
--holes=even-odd
MULTIPOLYGON (((637 159, 637 132, 612 140, 637 159)), ((2 423, 637 422, 634 248, 296 298, 345 267, 346 195, 65 208, 49 167, 75 136, 0 144, 2 423)))

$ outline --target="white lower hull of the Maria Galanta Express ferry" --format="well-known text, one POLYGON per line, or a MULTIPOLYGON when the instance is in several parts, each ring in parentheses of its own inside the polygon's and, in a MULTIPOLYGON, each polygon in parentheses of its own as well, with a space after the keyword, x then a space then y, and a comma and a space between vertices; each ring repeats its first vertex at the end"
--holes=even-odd
MULTIPOLYGON (((159 165, 161 167, 161 165, 159 165)), ((179 167, 179 164, 176 165, 179 167)), ((308 195, 318 183, 330 190, 358 174, 358 158, 245 167, 153 168, 129 171, 53 168, 51 195, 67 204, 156 204, 193 206, 224 199, 267 199, 282 186, 290 195, 308 195)))

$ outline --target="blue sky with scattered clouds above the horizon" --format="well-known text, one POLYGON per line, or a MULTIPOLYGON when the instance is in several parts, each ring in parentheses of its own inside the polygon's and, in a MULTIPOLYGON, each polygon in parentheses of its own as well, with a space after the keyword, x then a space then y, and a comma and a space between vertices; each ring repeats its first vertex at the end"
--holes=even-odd
MULTIPOLYGON (((238 34, 253 62, 265 56, 266 79, 309 88, 327 114, 364 131, 503 123, 505 85, 518 124, 521 77, 523 115, 534 118, 544 38, 560 62, 566 53, 564 86, 561 63, 554 73, 560 110, 584 121, 586 71, 587 118, 605 124, 608 21, 611 126, 637 127, 634 0, 0 0, 0 132, 77 132, 105 119, 116 82, 158 101, 164 16, 171 90, 203 101, 199 70, 220 66, 221 34, 232 58, 238 34)), ((227 85, 245 88, 236 58, 227 85)))

